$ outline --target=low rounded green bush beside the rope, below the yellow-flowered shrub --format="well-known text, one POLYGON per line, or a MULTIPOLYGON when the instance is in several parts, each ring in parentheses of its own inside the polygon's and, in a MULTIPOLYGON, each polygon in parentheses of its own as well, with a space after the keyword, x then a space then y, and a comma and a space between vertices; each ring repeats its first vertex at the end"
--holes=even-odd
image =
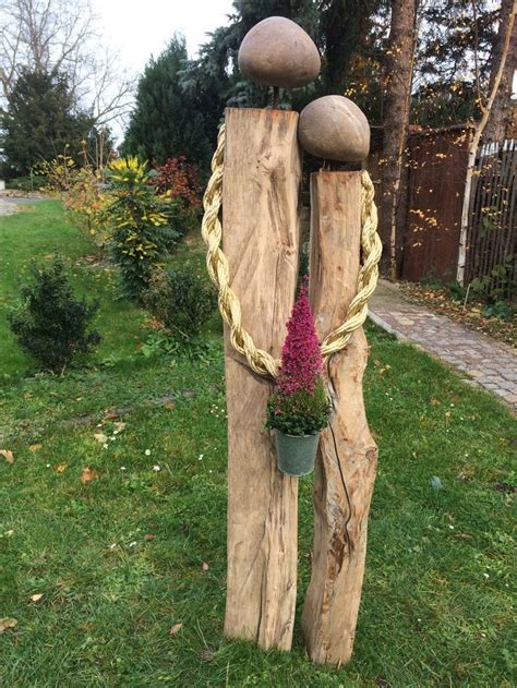
POLYGON ((144 304, 175 336, 189 340, 200 331, 216 306, 215 289, 192 269, 157 270, 144 304))

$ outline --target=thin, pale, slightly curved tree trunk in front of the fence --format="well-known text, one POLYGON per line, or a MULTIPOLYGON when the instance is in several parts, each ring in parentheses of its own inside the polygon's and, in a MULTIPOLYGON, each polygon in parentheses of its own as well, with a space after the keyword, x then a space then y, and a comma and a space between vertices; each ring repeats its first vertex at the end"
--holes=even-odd
POLYGON ((469 144, 469 161, 467 166, 467 177, 465 180, 464 192, 464 207, 461 210, 461 230, 459 233, 459 249, 458 249, 458 268, 456 270, 456 279, 460 285, 465 283, 465 265, 467 263, 467 239, 469 230, 469 208, 470 208, 470 192, 472 189, 472 172, 476 165, 476 156, 478 153, 479 143, 481 136, 485 130, 486 123, 490 119, 490 113, 497 97, 500 86, 503 82, 503 76, 506 68, 506 59, 510 51, 510 45, 515 35, 515 17, 517 14, 517 2, 510 1, 507 7, 506 0, 503 0, 502 12, 504 9, 508 10, 508 15, 501 15, 500 36, 503 32, 504 43, 498 50, 498 62, 493 64, 491 77, 492 87, 489 93, 489 99, 485 105, 482 106, 481 120, 476 124, 472 137, 469 144))

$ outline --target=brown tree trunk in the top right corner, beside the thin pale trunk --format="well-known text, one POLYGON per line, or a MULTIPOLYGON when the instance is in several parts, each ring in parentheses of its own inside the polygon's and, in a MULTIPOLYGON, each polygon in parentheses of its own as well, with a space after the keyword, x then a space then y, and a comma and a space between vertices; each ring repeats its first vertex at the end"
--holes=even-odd
POLYGON ((508 34, 510 34, 510 38, 501 83, 483 132, 483 141, 486 142, 502 143, 505 140, 506 128, 513 116, 510 98, 514 72, 517 69, 517 23, 514 22, 512 25, 512 15, 513 13, 515 14, 516 4, 516 0, 503 0, 501 3, 500 28, 492 57, 489 93, 494 86, 508 34))

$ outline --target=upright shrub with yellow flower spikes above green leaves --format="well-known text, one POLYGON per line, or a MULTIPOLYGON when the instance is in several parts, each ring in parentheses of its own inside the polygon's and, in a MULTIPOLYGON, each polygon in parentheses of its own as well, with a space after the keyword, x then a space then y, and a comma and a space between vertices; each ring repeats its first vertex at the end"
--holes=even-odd
POLYGON ((140 299, 151 276, 180 232, 171 227, 176 204, 149 184, 146 165, 135 157, 112 160, 107 168, 108 249, 122 277, 124 295, 140 299))

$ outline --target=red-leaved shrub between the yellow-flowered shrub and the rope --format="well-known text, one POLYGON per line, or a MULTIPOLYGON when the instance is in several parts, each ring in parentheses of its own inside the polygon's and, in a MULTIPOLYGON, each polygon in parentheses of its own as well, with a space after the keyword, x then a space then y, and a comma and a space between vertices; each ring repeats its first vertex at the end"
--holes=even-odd
POLYGON ((160 194, 170 196, 177 204, 176 228, 185 234, 196 224, 201 210, 201 190, 197 167, 184 156, 169 158, 164 165, 154 165, 151 183, 160 194))

